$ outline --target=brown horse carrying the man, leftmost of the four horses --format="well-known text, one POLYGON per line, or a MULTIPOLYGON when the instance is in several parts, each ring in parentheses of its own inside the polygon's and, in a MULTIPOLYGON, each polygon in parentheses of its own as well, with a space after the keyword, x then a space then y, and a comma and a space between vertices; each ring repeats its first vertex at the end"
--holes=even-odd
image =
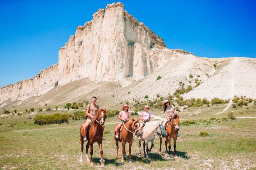
MULTIPOLYGON (((102 137, 103 137, 103 130, 102 130, 102 125, 105 123, 105 119, 106 119, 106 109, 99 109, 96 116, 94 117, 94 119, 92 119, 92 123, 91 123, 91 127, 89 132, 87 133, 87 139, 88 142, 86 144, 86 161, 89 161, 88 159, 88 148, 90 145, 90 164, 91 166, 93 166, 93 162, 92 162, 92 154, 93 154, 93 144, 94 142, 98 142, 99 144, 99 151, 101 153, 101 167, 105 167, 104 166, 104 162, 105 160, 103 159, 103 150, 102 150, 102 137)), ((80 127, 80 141, 81 141, 81 157, 80 157, 80 162, 83 159, 83 139, 84 139, 84 128, 85 128, 85 122, 81 125, 80 127)))

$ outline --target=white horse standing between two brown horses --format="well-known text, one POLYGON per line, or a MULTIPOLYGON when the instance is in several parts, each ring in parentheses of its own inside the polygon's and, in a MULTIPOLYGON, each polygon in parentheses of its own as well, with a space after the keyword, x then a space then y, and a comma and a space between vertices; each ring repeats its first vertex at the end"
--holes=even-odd
MULTIPOLYGON (((164 125, 162 124, 163 121, 149 121, 145 124, 145 126, 142 128, 142 138, 141 140, 144 141, 143 143, 143 150, 144 150, 144 157, 146 158, 146 161, 148 162, 148 152, 151 151, 151 149, 154 146, 154 139, 155 139, 155 134, 154 131, 157 130, 158 135, 162 135, 163 137, 166 137, 166 130, 164 125), (151 147, 148 149, 148 142, 151 142, 151 147), (146 151, 145 151, 145 146, 146 151)), ((139 141, 139 157, 141 157, 141 152, 140 152, 140 144, 141 141, 139 141)))

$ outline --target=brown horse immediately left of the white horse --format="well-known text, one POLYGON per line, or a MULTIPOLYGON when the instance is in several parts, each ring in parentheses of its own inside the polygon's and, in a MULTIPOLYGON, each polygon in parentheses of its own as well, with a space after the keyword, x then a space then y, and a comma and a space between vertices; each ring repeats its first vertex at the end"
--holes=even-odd
MULTIPOLYGON (((136 135, 141 135, 141 131, 139 129, 139 119, 130 119, 129 121, 127 121, 126 124, 123 123, 123 128, 121 130, 121 132, 119 132, 119 138, 115 138, 116 141, 116 146, 117 146, 117 157, 116 159, 118 159, 118 142, 122 142, 122 161, 121 163, 124 163, 124 157, 127 158, 126 155, 126 151, 125 151, 125 144, 129 143, 129 163, 132 162, 132 157, 131 157, 131 152, 132 152, 132 139, 133 139, 133 134, 136 135)), ((116 125, 117 126, 117 125, 116 125)), ((116 126, 114 128, 114 134, 115 134, 115 129, 116 126)))

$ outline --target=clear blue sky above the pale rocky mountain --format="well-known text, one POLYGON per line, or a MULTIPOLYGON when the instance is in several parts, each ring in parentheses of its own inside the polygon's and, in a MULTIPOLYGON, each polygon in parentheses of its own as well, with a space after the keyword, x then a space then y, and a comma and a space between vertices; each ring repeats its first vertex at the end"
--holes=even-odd
MULTIPOLYGON (((58 62, 76 26, 113 0, 1 0, 0 87, 33 78, 58 62)), ((199 57, 256 57, 256 2, 123 0, 124 9, 170 49, 199 57)))

